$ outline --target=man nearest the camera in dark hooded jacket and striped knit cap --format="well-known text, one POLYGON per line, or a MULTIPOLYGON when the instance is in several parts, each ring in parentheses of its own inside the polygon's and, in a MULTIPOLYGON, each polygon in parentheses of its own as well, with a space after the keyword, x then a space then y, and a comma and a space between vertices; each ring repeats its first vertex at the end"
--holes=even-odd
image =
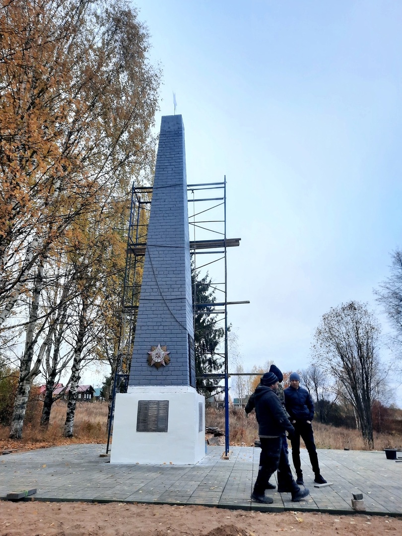
MULTIPOLYGON (((279 470, 286 487, 292 493, 292 501, 300 501, 309 494, 307 488, 300 489, 292 477, 287 456, 282 450, 282 435, 285 430, 289 435, 294 433, 294 428, 282 408, 276 391, 278 390, 278 378, 272 372, 267 372, 260 380, 254 391, 255 411, 258 422, 258 435, 261 443, 261 455, 259 468, 251 500, 270 504, 271 497, 265 495, 265 489, 269 488, 271 475, 279 470)), ((271 486, 272 487, 272 486, 271 486)))

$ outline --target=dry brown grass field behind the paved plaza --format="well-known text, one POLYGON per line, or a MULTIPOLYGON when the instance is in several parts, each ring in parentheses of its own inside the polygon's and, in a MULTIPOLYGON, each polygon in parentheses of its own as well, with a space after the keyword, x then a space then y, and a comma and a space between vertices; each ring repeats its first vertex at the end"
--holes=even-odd
MULTIPOLYGON (((74 424, 74 437, 63 437, 66 404, 58 401, 51 411, 50 425, 44 431, 39 426, 41 403, 34 402, 31 408, 29 423, 24 427, 23 439, 19 441, 9 440, 9 427, 0 426, 0 449, 35 449, 45 446, 54 446, 70 443, 106 443, 107 411, 105 402, 78 403, 74 424)), ((206 426, 225 429, 225 412, 207 408, 205 415, 206 426)), ((348 428, 335 428, 314 422, 314 436, 317 448, 321 449, 351 449, 364 450, 363 441, 359 430, 348 428)), ((229 412, 230 445, 254 445, 258 438, 258 425, 255 413, 252 412, 246 418, 243 410, 231 410, 229 412)), ((385 448, 401 448, 402 435, 378 434, 374 435, 374 447, 376 450, 385 448)))

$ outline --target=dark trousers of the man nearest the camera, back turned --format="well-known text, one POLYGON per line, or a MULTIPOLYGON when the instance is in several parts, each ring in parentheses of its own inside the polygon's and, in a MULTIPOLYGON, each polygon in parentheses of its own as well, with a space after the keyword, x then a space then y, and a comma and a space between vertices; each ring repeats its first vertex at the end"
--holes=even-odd
POLYGON ((300 488, 292 477, 292 470, 289 466, 288 457, 282 449, 282 436, 280 437, 260 437, 261 453, 259 456, 259 468, 257 480, 254 485, 254 493, 264 495, 267 483, 272 474, 278 470, 281 479, 292 492, 297 493, 300 488))

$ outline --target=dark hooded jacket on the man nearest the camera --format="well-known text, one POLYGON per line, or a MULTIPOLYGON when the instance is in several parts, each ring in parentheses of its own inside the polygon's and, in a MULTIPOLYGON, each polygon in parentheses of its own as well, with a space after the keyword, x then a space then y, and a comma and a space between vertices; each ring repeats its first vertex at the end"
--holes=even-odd
POLYGON ((288 430, 289 434, 294 433, 294 428, 273 389, 260 384, 253 395, 260 437, 280 436, 285 430, 288 430))

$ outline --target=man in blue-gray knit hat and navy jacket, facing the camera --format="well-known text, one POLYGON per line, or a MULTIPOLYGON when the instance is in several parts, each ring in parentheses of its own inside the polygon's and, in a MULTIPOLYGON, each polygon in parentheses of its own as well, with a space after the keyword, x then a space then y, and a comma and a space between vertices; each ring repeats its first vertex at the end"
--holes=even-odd
POLYGON ((307 389, 300 387, 300 376, 293 372, 289 376, 291 385, 285 389, 286 411, 290 415, 290 420, 294 426, 295 433, 290 438, 292 444, 292 459, 296 471, 296 483, 303 485, 303 472, 300 462, 300 437, 306 445, 309 453, 312 470, 314 471, 314 482, 326 484, 326 480, 321 476, 318 465, 317 449, 312 434, 311 421, 314 418, 314 404, 307 389))

